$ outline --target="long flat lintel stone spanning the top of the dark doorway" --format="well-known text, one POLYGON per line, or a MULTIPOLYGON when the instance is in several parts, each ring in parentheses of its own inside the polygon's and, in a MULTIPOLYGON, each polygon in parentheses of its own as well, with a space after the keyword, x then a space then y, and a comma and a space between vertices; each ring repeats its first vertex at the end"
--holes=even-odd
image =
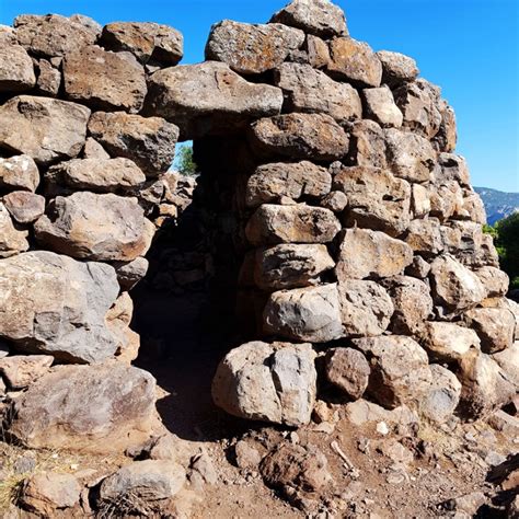
POLYGON ((175 123, 181 139, 229 135, 251 120, 279 114, 282 92, 249 83, 228 65, 207 61, 160 70, 149 81, 147 112, 175 123))

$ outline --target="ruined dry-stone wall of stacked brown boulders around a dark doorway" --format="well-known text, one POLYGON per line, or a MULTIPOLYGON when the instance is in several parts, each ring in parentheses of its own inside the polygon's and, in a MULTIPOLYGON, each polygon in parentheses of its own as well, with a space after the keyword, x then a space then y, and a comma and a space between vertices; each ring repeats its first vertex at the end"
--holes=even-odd
MULTIPOLYGON (((293 0, 266 24, 224 20, 198 65, 177 65, 182 35, 155 23, 22 15, 0 43, 10 438, 124 452, 157 437, 155 381, 131 366, 129 290, 193 192, 170 170, 178 140, 194 140, 218 216, 212 286, 243 342, 215 376, 218 406, 304 426, 326 382, 344 402, 445 423, 517 394, 519 305, 454 153, 453 109, 412 58, 350 37, 338 7, 293 0)), ((149 496, 146 477, 151 499, 171 497, 184 469, 160 463, 113 474, 100 503, 149 496)), ((73 482, 55 484, 71 494, 60 508, 74 506, 73 482)))

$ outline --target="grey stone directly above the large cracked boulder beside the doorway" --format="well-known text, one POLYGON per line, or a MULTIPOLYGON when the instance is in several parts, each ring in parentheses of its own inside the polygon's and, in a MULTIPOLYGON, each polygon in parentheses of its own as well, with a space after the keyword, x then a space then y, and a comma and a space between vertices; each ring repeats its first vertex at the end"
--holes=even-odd
POLYGON ((281 290, 263 311, 264 332, 293 341, 327 343, 344 336, 337 286, 281 290))

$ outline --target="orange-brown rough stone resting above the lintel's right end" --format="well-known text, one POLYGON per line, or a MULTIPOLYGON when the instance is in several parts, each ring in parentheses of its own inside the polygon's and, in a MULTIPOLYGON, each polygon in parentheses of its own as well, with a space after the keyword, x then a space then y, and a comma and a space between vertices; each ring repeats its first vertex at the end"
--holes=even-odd
POLYGON ((206 59, 223 61, 238 73, 261 73, 279 67, 303 43, 304 33, 286 25, 223 20, 211 27, 206 59))

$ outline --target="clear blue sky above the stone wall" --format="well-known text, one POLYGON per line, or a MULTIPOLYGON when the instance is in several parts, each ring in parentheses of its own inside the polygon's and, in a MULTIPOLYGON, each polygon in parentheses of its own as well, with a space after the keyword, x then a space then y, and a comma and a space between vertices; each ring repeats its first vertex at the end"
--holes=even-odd
MULTIPOLYGON (((184 64, 200 61, 222 19, 262 23, 285 0, 0 0, 21 13, 88 14, 100 23, 153 21, 184 33, 184 64)), ((458 152, 475 185, 519 192, 519 0, 338 0, 353 37, 413 56, 458 116, 458 152)))

